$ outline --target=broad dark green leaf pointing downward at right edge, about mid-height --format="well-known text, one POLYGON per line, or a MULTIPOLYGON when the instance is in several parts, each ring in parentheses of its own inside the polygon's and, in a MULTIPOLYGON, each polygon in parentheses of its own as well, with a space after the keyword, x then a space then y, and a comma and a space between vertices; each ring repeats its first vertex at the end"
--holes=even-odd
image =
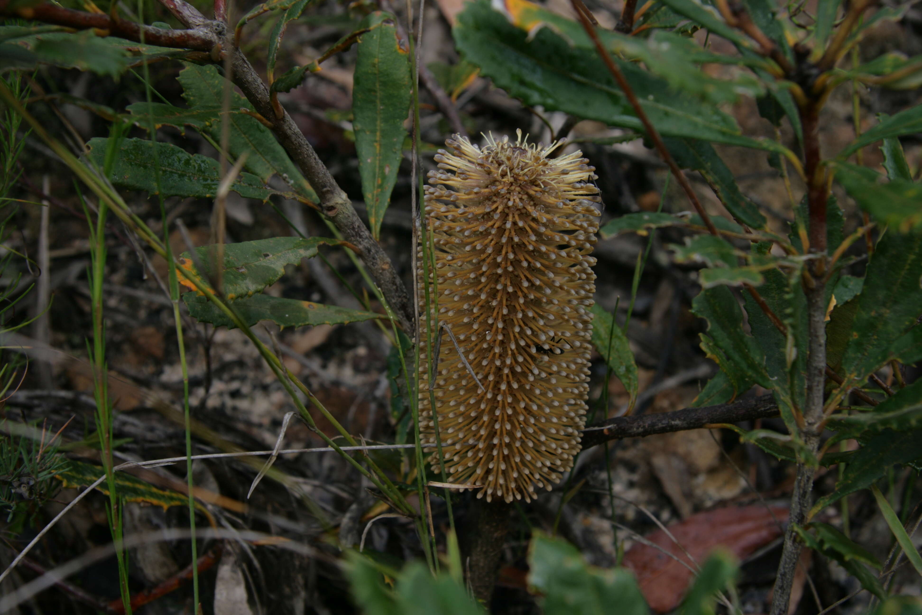
POLYGON ((894 343, 922 314, 922 239, 887 231, 871 255, 842 370, 863 382, 892 358, 894 343))

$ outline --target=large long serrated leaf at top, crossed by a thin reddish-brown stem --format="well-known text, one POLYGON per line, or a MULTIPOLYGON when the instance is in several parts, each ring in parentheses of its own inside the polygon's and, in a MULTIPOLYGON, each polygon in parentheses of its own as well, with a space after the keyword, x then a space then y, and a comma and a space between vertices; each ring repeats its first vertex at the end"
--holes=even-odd
MULTIPOLYGON (((527 105, 643 132, 643 124, 594 51, 573 48, 548 28, 529 39, 525 30, 515 28, 482 1, 467 5, 454 31, 467 60, 527 105)), ((742 136, 735 120, 715 105, 674 91, 664 79, 630 62, 616 61, 660 134, 789 155, 774 141, 742 136)))

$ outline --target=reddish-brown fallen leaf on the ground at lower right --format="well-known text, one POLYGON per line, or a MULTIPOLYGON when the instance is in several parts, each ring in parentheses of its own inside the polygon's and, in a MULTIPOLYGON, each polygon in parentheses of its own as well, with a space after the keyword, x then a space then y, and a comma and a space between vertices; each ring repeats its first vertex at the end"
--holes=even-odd
MULTIPOLYGON (((686 562, 692 569, 695 562, 702 564, 716 547, 723 547, 742 559, 782 535, 778 522, 786 522, 787 508, 771 508, 769 512, 761 504, 727 506, 692 514, 684 521, 669 526, 669 532, 694 562, 690 562, 688 555, 661 529, 646 539, 686 562)), ((624 565, 637 575, 637 582, 650 609, 657 613, 678 607, 691 583, 692 575, 688 568, 663 551, 639 542, 624 554, 624 565)))

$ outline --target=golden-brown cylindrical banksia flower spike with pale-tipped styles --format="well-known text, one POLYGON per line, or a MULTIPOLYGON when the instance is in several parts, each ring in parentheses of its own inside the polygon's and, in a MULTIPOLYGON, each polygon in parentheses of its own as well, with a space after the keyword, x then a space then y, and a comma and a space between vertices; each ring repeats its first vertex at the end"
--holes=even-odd
MULTIPOLYGON (((487 140, 448 139, 426 187, 431 321, 457 341, 441 344, 434 409, 445 480, 530 501, 573 467, 585 425, 597 176, 582 152, 548 158, 558 143, 487 140)), ((421 437, 439 472, 427 363, 423 349, 421 437)))

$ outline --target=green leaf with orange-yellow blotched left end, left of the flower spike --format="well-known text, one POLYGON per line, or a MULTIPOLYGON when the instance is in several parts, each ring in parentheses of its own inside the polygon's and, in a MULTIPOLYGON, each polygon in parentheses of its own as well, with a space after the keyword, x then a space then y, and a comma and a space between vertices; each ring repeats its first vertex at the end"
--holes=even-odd
MULTIPOLYGON (((275 284, 285 274, 286 265, 298 265, 302 258, 313 258, 321 245, 338 245, 335 239, 324 237, 273 237, 254 242, 228 243, 224 246, 224 296, 228 301, 250 297, 275 284)), ((208 278, 214 278, 213 246, 195 248, 199 262, 205 266, 203 276, 188 252, 179 258, 182 267, 180 283, 189 290, 198 290, 190 278, 210 288, 208 278)))

